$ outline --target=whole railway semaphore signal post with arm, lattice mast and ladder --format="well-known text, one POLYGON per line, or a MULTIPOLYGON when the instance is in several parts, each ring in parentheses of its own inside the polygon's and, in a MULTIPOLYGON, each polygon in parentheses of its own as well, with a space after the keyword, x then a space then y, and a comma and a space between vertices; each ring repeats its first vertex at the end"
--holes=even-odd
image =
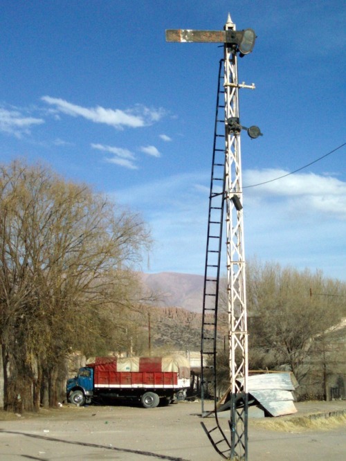
MULTIPOLYGON (((235 24, 228 15, 224 30, 166 30, 167 42, 208 42, 224 43, 224 117, 217 120, 224 125, 224 148, 214 151, 223 151, 224 159, 222 164, 215 163, 213 155, 213 167, 223 168, 224 190, 218 193, 213 192, 210 187, 210 209, 208 222, 208 239, 219 239, 222 237, 221 222, 210 218, 214 210, 220 209, 223 217, 223 209, 226 208, 226 255, 227 255, 227 293, 228 293, 228 345, 230 363, 230 440, 224 433, 217 419, 216 411, 216 370, 215 373, 215 419, 217 426, 210 431, 202 423, 210 442, 215 450, 225 459, 247 460, 248 441, 248 333, 246 321, 246 284, 245 284, 245 260, 244 260, 244 226, 243 226, 243 197, 242 197, 242 161, 240 152, 240 132, 242 125, 239 122, 239 88, 254 89, 254 84, 239 84, 237 75, 237 53, 244 56, 251 53, 255 44, 255 32, 252 29, 237 31, 235 24), (215 167, 217 165, 217 167, 215 167), (220 200, 219 206, 213 206, 212 200, 217 197, 220 200), (210 228, 218 232, 212 233, 210 228), (213 227, 214 226, 214 227, 213 227), (219 235, 215 236, 212 234, 219 235), (217 431, 215 431, 217 429, 217 431), (215 433, 221 433, 221 440, 215 433), (222 443, 220 443, 222 442, 222 443), (221 445, 225 448, 222 449, 221 445)), ((217 131, 215 123, 215 133, 217 131)), ((262 135, 258 127, 250 127, 248 135, 257 138, 262 135)), ((215 134, 215 136, 219 136, 215 134)), ((215 143, 214 143, 215 144, 215 143)), ((212 182, 213 182, 212 172, 212 182)), ((215 178, 214 178, 215 179, 215 178)), ((220 178, 217 178, 220 179, 220 178)), ((223 219, 219 219, 222 221, 223 219)), ((208 242, 209 243, 209 242, 208 242)), ((201 369, 203 381, 203 356, 210 354, 216 365, 216 340, 217 340, 217 303, 219 290, 219 267, 221 248, 208 249, 206 257, 206 275, 203 300, 203 327, 201 347, 201 369), (217 256, 215 256, 217 255, 217 256), (215 262, 209 263, 208 257, 216 257, 215 262), (216 269, 215 269, 216 268, 216 269), (213 271, 213 272, 212 272, 213 271), (212 286, 212 288, 210 288, 212 286), (215 305, 210 307, 210 297, 215 298, 215 305), (205 320, 205 310, 214 314, 214 320, 205 320)), ((211 246, 210 246, 211 247, 211 246)), ((215 248, 215 247, 213 247, 215 248)), ((214 367, 215 368, 215 367, 214 367)), ((201 383, 203 389, 203 382, 201 383)), ((203 411, 203 390, 202 390, 202 416, 203 411)), ((210 412, 212 413, 212 412, 210 412)), ((210 414, 208 413, 208 414, 210 414)))

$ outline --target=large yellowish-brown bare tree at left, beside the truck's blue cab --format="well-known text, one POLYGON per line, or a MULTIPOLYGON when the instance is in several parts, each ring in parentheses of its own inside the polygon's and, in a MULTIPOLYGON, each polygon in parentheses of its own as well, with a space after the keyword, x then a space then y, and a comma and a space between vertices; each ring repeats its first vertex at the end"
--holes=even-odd
POLYGON ((5 408, 37 409, 44 379, 55 405, 62 359, 104 348, 138 299, 149 232, 89 187, 15 161, 0 168, 0 238, 5 408))

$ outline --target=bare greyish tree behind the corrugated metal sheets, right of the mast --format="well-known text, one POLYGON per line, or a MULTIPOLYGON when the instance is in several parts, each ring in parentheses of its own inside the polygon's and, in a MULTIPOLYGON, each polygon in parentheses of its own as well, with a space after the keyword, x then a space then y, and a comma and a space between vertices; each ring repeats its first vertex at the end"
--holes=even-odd
POLYGON ((257 263, 250 264, 247 283, 255 367, 286 366, 302 383, 310 370, 307 357, 321 335, 345 314, 345 284, 324 278, 320 271, 257 263))

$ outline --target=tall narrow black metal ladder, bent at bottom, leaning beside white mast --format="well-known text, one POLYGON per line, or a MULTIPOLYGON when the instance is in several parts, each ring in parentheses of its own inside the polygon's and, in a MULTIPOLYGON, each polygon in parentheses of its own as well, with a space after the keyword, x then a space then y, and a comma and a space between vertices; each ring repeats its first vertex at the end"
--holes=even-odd
POLYGON ((210 180, 208 235, 206 246, 206 268, 203 285, 203 315, 201 331, 201 413, 206 417, 213 413, 216 426, 208 430, 203 422, 204 431, 208 435, 215 450, 225 459, 229 458, 230 443, 219 426, 217 418, 217 308, 219 304, 219 278, 221 261, 222 229, 224 222, 225 199, 225 105, 222 73, 224 60, 219 64, 217 85, 217 106, 215 114, 214 144, 212 152, 212 174, 210 180), (222 110, 220 110, 222 109, 222 110), (222 115, 221 115, 222 114, 222 115), (207 365, 208 363, 208 365, 207 365), (212 381, 208 381, 206 370, 212 370, 212 381), (208 397, 208 385, 214 393, 215 408, 212 412, 204 410, 204 400, 208 397), (215 442, 216 438, 221 439, 215 442), (227 454, 226 454, 227 453, 227 454))

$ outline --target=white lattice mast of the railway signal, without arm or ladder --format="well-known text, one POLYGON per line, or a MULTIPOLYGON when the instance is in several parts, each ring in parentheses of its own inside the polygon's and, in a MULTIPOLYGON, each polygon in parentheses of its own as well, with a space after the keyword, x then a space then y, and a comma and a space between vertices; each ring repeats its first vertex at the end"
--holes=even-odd
MULTIPOLYGON (((230 19, 230 18, 229 18, 230 19)), ((235 30, 228 20, 226 30, 235 30)), ((224 47, 225 120, 239 119, 237 55, 224 47)), ((248 335, 242 208, 242 157, 240 134, 225 128, 225 205, 228 333, 230 350, 230 459, 247 459, 248 440, 248 335), (240 378, 240 381, 239 381, 240 378), (239 400, 243 404, 239 406, 239 400)))

